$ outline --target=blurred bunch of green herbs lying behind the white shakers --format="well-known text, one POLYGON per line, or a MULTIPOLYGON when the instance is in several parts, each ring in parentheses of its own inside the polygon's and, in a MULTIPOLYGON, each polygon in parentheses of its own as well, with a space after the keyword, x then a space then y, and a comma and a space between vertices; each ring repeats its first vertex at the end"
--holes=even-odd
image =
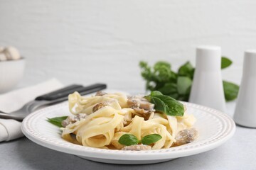
MULTIPOLYGON (((232 64, 227 57, 221 58, 221 68, 225 69, 232 64)), ((179 101, 188 101, 191 93, 193 74, 195 68, 190 62, 179 67, 178 72, 171 70, 169 62, 156 62, 150 67, 146 62, 139 62, 142 77, 146 80, 146 90, 161 91, 166 96, 171 96, 179 101)), ((228 81, 223 81, 225 100, 232 101, 238 97, 239 86, 228 81)), ((159 103, 159 101, 156 102, 159 103)))

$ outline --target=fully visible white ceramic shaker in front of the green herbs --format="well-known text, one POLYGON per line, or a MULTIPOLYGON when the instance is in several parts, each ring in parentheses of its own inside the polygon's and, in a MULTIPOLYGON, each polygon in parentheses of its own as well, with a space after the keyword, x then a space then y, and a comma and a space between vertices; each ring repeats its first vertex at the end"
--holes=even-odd
POLYGON ((196 70, 189 102, 225 112, 220 47, 199 46, 196 48, 196 70))

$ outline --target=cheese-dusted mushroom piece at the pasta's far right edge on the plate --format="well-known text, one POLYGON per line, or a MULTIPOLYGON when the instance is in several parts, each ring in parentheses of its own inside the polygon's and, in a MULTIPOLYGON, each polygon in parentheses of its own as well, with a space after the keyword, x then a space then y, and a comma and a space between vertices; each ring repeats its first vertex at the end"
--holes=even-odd
POLYGON ((198 137, 198 131, 195 128, 185 129, 178 132, 176 135, 175 145, 184 145, 191 143, 198 137))

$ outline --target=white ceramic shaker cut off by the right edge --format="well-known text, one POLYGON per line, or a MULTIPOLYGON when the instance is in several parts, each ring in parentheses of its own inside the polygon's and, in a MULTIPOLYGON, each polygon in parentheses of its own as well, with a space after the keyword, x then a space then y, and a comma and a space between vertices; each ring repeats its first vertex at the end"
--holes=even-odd
POLYGON ((245 51, 234 120, 238 125, 256 128, 256 50, 245 51))

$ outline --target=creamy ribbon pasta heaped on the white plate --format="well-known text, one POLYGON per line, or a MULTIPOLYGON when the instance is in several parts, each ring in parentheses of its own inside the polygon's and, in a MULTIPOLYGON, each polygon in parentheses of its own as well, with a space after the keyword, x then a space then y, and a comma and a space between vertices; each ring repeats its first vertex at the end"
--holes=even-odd
POLYGON ((119 93, 82 97, 75 92, 70 94, 68 102, 70 113, 78 120, 61 128, 62 137, 86 147, 122 149, 124 145, 118 141, 124 134, 132 134, 138 140, 158 134, 161 140, 152 144, 151 149, 169 148, 175 146, 178 132, 192 128, 196 121, 192 114, 186 112, 183 116, 158 113, 146 105, 151 103, 144 98, 131 98, 119 93), (131 101, 139 100, 140 106, 131 106, 131 101))

